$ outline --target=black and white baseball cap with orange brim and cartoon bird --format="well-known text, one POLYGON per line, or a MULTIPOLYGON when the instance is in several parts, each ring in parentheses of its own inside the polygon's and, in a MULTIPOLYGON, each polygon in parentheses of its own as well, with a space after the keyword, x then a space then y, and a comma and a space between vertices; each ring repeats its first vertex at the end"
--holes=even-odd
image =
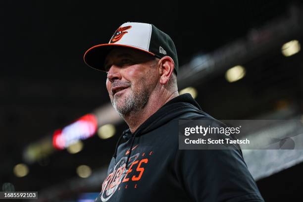
POLYGON ((172 39, 152 24, 127 22, 113 34, 108 44, 100 44, 87 50, 85 63, 97 70, 104 70, 104 61, 110 50, 116 47, 128 47, 141 50, 157 58, 170 56, 175 63, 174 71, 178 74, 177 50, 172 39))

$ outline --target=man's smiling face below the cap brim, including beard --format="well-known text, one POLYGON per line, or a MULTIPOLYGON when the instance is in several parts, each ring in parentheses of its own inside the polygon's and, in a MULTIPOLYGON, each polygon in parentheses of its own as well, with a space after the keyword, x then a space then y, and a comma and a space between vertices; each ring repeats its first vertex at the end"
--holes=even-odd
POLYGON ((130 48, 111 50, 105 59, 105 69, 110 101, 121 115, 142 109, 159 79, 157 59, 130 48))

